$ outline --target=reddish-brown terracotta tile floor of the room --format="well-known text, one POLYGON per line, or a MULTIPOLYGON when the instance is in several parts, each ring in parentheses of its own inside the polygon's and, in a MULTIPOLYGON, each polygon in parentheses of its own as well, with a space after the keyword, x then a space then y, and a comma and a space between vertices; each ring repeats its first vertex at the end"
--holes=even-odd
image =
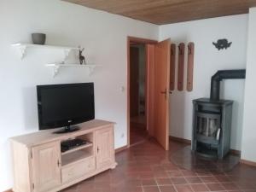
POLYGON ((145 141, 119 154, 118 166, 63 192, 256 192, 256 168, 236 166, 231 172, 206 167, 187 171, 170 162, 169 155, 183 148, 170 143, 166 152, 154 141, 145 141))

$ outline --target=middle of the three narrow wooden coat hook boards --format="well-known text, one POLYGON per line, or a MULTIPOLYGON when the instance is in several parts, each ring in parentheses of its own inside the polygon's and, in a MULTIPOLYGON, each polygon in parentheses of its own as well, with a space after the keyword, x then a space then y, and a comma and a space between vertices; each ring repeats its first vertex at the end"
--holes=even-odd
POLYGON ((177 90, 183 90, 185 44, 178 45, 177 90))

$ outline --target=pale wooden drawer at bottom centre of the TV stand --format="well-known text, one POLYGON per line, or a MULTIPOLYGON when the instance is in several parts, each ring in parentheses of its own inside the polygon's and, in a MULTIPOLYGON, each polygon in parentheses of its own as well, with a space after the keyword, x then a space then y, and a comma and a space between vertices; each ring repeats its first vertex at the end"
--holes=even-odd
POLYGON ((95 158, 88 158, 79 161, 72 166, 63 167, 61 169, 62 183, 67 183, 79 177, 84 177, 86 173, 96 170, 95 158))

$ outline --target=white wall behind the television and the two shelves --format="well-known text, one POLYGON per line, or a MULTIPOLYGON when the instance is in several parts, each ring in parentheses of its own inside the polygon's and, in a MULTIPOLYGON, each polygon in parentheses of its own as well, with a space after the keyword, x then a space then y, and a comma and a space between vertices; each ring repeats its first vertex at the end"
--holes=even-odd
POLYGON ((0 191, 12 187, 8 138, 38 131, 37 84, 95 82, 96 118, 117 122, 115 148, 127 143, 126 38, 157 39, 158 26, 59 0, 1 0, 0 25, 0 191), (10 46, 31 42, 32 32, 45 32, 46 44, 81 45, 87 61, 102 67, 91 77, 61 69, 53 79, 44 64, 61 61, 61 51, 28 49, 20 61, 10 46))

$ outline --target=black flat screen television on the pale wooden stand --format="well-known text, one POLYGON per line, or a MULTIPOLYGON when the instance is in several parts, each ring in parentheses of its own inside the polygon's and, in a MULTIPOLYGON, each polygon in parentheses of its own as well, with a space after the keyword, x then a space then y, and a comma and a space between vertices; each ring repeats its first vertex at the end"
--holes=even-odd
POLYGON ((93 83, 38 85, 37 92, 39 130, 76 131, 71 125, 95 118, 93 83))

